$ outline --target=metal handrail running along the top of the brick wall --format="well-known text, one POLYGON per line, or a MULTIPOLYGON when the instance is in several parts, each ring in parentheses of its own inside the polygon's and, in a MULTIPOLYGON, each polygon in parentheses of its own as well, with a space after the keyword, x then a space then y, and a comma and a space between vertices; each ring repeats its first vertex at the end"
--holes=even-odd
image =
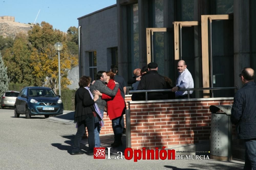
MULTIPOLYGON (((206 87, 206 88, 190 88, 190 89, 179 89, 178 91, 196 91, 196 90, 227 90, 227 89, 237 89, 238 86, 236 87, 206 87)), ((145 92, 145 99, 147 100, 147 93, 148 92, 165 92, 165 91, 172 91, 172 89, 161 89, 161 90, 130 90, 129 93, 141 93, 145 92)), ((188 95, 188 99, 189 99, 188 95)))

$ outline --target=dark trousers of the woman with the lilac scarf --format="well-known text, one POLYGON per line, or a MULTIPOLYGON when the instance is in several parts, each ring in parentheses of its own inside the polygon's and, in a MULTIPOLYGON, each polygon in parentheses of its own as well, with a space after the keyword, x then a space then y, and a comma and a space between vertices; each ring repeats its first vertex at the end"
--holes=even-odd
POLYGON ((94 117, 91 118, 87 115, 85 120, 82 120, 81 122, 78 122, 78 128, 77 133, 74 138, 74 144, 72 146, 72 152, 78 152, 80 151, 80 142, 82 140, 85 127, 87 127, 88 130, 88 144, 89 144, 89 150, 88 152, 93 152, 93 148, 95 146, 94 142, 94 117))

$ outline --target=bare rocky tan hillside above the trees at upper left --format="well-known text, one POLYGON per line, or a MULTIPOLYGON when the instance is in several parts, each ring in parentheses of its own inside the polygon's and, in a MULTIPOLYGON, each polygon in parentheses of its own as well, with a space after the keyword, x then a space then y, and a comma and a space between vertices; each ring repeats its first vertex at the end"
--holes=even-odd
POLYGON ((11 36, 14 38, 19 32, 27 34, 28 30, 32 29, 32 27, 29 24, 0 19, 0 35, 3 37, 11 36))

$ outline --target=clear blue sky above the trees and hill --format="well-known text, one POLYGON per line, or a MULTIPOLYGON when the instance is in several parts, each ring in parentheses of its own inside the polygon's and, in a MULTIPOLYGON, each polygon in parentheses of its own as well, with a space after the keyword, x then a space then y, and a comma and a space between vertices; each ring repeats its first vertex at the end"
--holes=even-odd
POLYGON ((116 0, 1 0, 0 16, 13 16, 16 22, 46 21, 54 29, 66 32, 78 27, 77 18, 116 4, 116 0))

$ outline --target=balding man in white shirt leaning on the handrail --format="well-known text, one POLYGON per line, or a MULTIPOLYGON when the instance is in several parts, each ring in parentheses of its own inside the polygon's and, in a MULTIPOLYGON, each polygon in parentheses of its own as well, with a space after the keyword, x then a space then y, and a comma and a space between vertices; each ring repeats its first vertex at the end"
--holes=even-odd
MULTIPOLYGON (((188 92, 178 91, 179 89, 190 89, 194 88, 194 81, 191 73, 187 69, 187 65, 184 60, 179 60, 178 62, 178 71, 179 77, 176 81, 176 86, 172 88, 172 91, 175 92, 176 99, 187 99, 188 92)), ((189 94, 192 94, 193 91, 189 91, 189 94)))

